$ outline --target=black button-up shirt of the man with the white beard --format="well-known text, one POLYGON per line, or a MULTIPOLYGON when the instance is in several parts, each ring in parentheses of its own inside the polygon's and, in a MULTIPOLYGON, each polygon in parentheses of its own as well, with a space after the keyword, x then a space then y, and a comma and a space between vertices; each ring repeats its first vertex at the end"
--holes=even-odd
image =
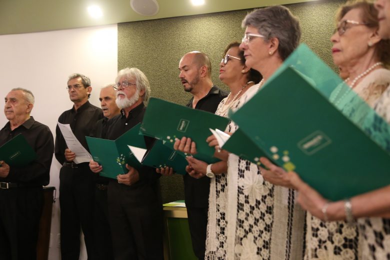
MULTIPOLYGON (((145 114, 146 107, 143 103, 137 105, 128 113, 126 117, 124 111, 108 120, 107 139, 115 140, 127 130, 141 122, 145 114)), ((146 147, 150 148, 154 142, 154 138, 144 136, 146 147)), ((131 165, 130 165, 131 166, 131 165)), ((153 202, 160 199, 158 190, 158 178, 161 174, 157 173, 153 167, 142 166, 139 173, 139 180, 134 184, 126 186, 127 189, 132 190, 134 203, 153 202)), ((113 180, 116 181, 116 180, 113 180)), ((120 184, 122 187, 124 184, 120 184)))

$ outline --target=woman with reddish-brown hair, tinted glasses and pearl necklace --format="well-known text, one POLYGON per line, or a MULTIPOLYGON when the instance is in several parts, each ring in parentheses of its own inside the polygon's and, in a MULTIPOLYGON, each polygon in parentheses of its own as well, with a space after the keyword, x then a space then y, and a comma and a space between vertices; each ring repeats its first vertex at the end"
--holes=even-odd
MULTIPOLYGON (((377 11, 374 6, 365 1, 341 6, 337 15, 337 29, 331 36, 331 41, 334 63, 342 67, 343 73, 348 74, 345 82, 372 107, 390 82, 390 71, 384 68, 384 65, 390 62, 390 45, 388 40, 382 40, 378 35, 377 11)), ((337 87, 332 92, 330 101, 344 114, 354 118, 355 122, 364 120, 359 118, 360 114, 354 102, 355 94, 341 93, 337 87)), ((264 178, 274 184, 297 188, 298 201, 309 211, 306 217, 306 259, 360 259, 361 253, 363 259, 375 259, 375 253, 376 259, 389 258, 390 252, 387 251, 385 256, 383 251, 384 243, 389 243, 390 248, 390 238, 385 239, 385 233, 378 235, 378 239, 370 239, 379 241, 377 245, 367 243, 367 237, 375 237, 375 231, 382 228, 383 223, 376 226, 361 225, 360 237, 363 239, 359 242, 357 226, 348 223, 356 216, 352 213, 353 205, 349 199, 328 203, 294 172, 287 174, 267 159, 260 160, 269 168, 261 169, 264 178), (360 246, 361 242, 363 246, 360 246)), ((387 223, 386 228, 390 228, 390 223, 387 223)))

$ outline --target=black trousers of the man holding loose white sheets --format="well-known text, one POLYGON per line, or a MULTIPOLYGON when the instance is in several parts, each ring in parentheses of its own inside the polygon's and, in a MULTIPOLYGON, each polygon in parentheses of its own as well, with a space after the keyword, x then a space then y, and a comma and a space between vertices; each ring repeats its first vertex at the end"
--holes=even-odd
POLYGON ((95 258, 93 225, 95 176, 88 164, 59 170, 61 260, 78 260, 80 227, 88 259, 95 258))

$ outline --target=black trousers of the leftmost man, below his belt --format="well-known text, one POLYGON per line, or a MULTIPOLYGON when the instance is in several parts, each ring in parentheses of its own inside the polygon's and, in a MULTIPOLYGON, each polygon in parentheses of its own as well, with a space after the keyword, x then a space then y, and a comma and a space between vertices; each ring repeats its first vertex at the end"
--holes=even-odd
POLYGON ((42 187, 0 189, 0 259, 34 260, 42 187))

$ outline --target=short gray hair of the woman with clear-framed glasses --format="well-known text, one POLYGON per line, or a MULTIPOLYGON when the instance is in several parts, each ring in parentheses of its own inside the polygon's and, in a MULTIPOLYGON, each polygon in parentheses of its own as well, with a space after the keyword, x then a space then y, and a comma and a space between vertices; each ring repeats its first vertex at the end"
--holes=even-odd
POLYGON ((265 41, 272 37, 279 40, 277 51, 282 60, 286 59, 299 44, 299 21, 287 7, 274 5, 255 9, 242 20, 242 27, 248 25, 257 28, 258 32, 265 36, 265 41))

